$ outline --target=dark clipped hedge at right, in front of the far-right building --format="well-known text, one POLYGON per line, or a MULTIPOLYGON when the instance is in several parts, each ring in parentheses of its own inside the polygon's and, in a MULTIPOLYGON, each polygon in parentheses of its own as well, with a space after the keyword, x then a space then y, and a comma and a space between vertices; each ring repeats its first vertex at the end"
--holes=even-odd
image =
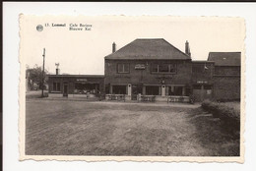
POLYGON ((240 110, 235 105, 206 100, 201 106, 203 109, 211 112, 214 117, 220 118, 226 130, 235 133, 240 130, 240 110))

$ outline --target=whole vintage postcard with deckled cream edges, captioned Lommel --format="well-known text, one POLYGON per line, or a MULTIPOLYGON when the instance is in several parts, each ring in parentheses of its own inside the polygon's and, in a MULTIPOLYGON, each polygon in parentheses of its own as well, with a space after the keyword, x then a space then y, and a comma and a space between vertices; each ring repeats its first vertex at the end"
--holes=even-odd
POLYGON ((244 162, 245 21, 20 15, 20 160, 244 162))

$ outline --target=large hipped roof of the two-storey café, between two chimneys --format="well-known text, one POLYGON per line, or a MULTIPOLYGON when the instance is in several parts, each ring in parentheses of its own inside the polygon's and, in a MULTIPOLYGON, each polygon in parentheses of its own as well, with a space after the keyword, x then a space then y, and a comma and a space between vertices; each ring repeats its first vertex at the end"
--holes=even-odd
POLYGON ((105 59, 170 59, 186 60, 190 56, 163 38, 135 39, 105 59))

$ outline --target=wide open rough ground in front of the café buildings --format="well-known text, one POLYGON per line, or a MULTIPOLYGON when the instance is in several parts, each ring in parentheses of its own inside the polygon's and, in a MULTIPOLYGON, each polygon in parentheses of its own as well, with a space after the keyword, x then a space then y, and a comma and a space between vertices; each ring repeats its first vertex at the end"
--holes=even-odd
POLYGON ((239 140, 191 104, 33 99, 26 108, 29 155, 239 155, 239 140))

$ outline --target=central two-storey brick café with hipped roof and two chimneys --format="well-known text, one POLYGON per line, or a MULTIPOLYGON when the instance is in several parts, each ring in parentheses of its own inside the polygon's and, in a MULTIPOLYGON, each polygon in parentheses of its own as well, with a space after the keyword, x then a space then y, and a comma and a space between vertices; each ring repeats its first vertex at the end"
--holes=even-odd
POLYGON ((137 94, 156 95, 166 101, 169 95, 187 98, 191 92, 191 57, 166 40, 136 39, 106 56, 104 76, 106 93, 122 93, 126 99, 137 94))

